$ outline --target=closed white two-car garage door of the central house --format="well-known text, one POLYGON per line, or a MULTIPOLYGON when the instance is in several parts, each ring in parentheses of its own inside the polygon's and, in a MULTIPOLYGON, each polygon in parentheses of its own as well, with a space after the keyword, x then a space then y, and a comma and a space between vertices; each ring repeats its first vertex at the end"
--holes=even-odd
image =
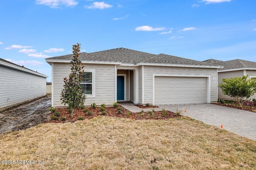
POLYGON ((155 105, 206 103, 206 77, 155 77, 155 105))

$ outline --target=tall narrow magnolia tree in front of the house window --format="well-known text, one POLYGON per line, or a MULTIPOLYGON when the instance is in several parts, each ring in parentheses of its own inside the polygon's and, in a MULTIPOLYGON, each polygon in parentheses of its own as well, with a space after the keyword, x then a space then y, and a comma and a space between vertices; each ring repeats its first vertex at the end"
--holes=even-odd
POLYGON ((82 62, 79 59, 80 44, 73 45, 73 59, 71 64, 71 73, 64 78, 64 89, 61 91, 61 103, 68 104, 71 110, 71 117, 73 117, 74 109, 82 107, 86 99, 84 89, 82 88, 82 75, 84 73, 82 62))

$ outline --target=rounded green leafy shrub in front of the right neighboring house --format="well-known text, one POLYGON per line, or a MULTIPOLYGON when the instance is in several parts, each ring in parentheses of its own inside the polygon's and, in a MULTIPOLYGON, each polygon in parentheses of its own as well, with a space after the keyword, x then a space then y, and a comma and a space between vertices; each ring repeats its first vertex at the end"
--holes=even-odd
POLYGON ((240 107, 244 101, 256 93, 256 80, 248 79, 247 76, 222 79, 219 85, 224 95, 229 95, 240 107))

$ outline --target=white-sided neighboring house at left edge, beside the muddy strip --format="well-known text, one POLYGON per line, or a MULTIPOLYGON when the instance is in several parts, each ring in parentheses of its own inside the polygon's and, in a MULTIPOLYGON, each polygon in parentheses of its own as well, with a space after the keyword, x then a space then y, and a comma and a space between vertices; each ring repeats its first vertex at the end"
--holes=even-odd
POLYGON ((45 96, 47 77, 0 58, 0 109, 45 96))

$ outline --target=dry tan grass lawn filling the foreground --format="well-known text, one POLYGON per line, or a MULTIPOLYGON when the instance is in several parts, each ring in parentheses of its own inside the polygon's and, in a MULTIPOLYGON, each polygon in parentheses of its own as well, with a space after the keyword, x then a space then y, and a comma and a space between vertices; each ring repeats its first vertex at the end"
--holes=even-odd
POLYGON ((181 117, 95 117, 0 135, 0 169, 256 169, 256 141, 181 117))

